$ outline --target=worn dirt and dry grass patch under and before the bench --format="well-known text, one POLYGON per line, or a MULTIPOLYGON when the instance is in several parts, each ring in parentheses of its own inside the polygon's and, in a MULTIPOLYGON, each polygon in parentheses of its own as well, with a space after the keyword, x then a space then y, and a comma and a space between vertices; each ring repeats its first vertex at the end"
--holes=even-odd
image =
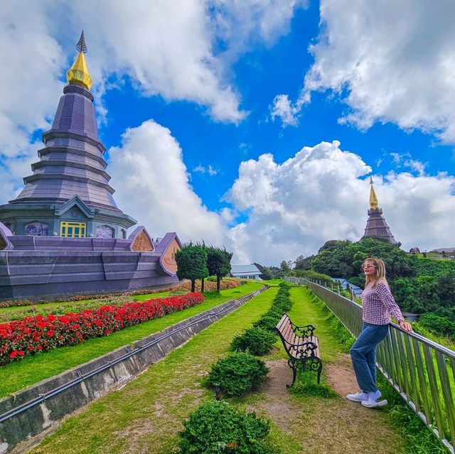
POLYGON ((269 382, 263 389, 266 399, 250 405, 249 409, 267 414, 296 443, 301 443, 294 446, 296 453, 403 452, 401 438, 390 428, 383 411, 365 409, 343 399, 355 389, 352 370, 341 364, 326 364, 327 382, 339 398, 301 399, 289 394, 286 388, 286 384, 291 382, 286 360, 268 361, 267 366, 270 369, 269 382))

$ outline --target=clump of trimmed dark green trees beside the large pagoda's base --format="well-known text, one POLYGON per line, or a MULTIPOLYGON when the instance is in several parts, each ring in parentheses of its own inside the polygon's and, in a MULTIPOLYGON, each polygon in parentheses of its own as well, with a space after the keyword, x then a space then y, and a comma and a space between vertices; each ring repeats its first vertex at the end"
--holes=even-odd
POLYGON ((200 290, 204 291, 204 280, 216 277, 216 288, 220 291, 221 279, 230 274, 232 252, 225 248, 205 246, 205 244, 186 244, 175 254, 178 279, 189 279, 191 291, 196 289, 196 279, 200 279, 200 290))

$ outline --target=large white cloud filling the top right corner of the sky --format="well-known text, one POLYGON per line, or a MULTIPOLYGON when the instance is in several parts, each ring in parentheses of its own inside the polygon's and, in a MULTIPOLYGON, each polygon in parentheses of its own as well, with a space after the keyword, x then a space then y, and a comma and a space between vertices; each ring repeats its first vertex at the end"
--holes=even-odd
POLYGON ((390 121, 455 142, 453 1, 321 0, 320 13, 295 109, 328 90, 348 106, 342 123, 390 121))

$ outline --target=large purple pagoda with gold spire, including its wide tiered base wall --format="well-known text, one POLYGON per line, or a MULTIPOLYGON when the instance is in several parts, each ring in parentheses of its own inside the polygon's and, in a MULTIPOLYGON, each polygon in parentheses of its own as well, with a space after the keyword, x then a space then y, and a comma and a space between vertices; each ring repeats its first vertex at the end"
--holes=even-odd
POLYGON ((117 207, 102 157, 84 33, 32 175, 0 205, 0 299, 165 285, 176 278, 175 233, 152 239, 117 207))

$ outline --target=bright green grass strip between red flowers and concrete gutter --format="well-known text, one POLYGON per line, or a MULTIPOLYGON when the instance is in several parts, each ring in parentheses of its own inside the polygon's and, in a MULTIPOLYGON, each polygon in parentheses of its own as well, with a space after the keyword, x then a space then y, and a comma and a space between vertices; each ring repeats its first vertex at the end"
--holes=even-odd
POLYGON ((0 367, 0 398, 14 394, 43 379, 53 377, 65 370, 76 367, 96 357, 112 352, 124 345, 131 345, 152 333, 164 330, 168 326, 193 315, 208 310, 231 299, 240 298, 261 288, 260 282, 248 282, 237 288, 218 293, 206 293, 205 301, 197 306, 174 312, 156 320, 139 323, 124 330, 117 331, 106 337, 96 337, 85 340, 71 347, 60 347, 40 355, 25 357, 18 362, 12 362, 0 367))

